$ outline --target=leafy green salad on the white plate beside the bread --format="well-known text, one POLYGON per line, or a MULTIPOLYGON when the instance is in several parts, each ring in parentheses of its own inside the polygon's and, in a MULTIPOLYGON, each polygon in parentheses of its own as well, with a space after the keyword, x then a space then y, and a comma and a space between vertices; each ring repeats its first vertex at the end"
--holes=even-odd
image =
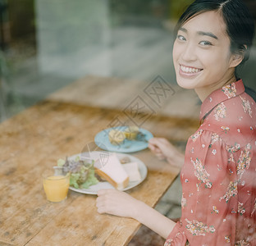
POLYGON ((75 160, 59 159, 57 166, 62 166, 65 174, 70 173, 70 185, 76 189, 88 189, 90 185, 98 183, 94 175, 94 160, 83 161, 80 157, 75 157, 75 160))

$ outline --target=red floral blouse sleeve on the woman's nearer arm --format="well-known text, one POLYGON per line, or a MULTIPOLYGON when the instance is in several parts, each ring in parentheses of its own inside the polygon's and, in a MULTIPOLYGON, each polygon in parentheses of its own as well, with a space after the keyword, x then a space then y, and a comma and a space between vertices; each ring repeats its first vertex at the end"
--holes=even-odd
POLYGON ((192 135, 181 171, 181 221, 165 245, 231 245, 235 240, 236 180, 235 163, 222 139, 208 130, 192 135))

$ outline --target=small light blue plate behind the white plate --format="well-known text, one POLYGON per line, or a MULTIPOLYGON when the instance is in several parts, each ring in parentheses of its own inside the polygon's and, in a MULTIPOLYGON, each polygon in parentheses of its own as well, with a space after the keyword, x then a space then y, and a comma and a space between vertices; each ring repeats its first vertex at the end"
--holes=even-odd
POLYGON ((153 134, 151 134, 148 130, 139 128, 140 134, 138 139, 135 139, 135 140, 125 139, 125 141, 122 144, 113 145, 110 143, 108 139, 108 133, 111 130, 123 131, 123 130, 126 130, 126 126, 117 126, 117 127, 108 128, 96 134, 94 141, 99 148, 102 148, 107 151, 113 151, 113 152, 132 153, 132 152, 137 152, 139 150, 143 150, 144 148, 148 148, 148 141, 149 139, 153 138, 153 134))

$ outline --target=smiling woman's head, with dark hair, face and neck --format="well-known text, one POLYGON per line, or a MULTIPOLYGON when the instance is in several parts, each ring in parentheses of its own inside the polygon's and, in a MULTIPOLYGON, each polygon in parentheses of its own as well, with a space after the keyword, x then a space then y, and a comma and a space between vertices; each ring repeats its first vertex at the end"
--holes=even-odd
POLYGON ((220 85, 238 80, 236 67, 248 60, 254 38, 254 21, 243 2, 208 2, 194 2, 181 16, 173 48, 178 84, 195 89, 202 101, 220 85))

